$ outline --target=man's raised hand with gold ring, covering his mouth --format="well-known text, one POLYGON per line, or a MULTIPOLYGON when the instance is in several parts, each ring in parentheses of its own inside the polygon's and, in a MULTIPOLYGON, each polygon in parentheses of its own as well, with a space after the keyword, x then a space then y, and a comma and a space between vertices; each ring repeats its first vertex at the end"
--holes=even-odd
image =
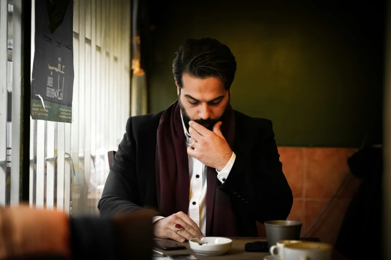
POLYGON ((232 156, 232 149, 221 133, 221 122, 217 122, 210 131, 194 121, 189 122, 189 133, 194 142, 187 147, 187 153, 203 164, 221 171, 232 156))

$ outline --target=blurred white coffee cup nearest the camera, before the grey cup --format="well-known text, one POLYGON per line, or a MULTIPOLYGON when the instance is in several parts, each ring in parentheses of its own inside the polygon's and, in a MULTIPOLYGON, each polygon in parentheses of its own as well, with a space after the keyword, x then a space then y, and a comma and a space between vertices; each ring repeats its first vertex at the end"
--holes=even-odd
POLYGON ((283 260, 332 260, 333 246, 320 242, 302 242, 285 245, 283 252, 283 260))

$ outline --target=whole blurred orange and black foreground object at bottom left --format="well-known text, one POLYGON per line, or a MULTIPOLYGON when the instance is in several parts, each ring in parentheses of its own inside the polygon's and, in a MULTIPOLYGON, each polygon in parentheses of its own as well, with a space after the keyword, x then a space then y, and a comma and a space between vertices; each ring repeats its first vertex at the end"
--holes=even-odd
POLYGON ((149 210, 113 218, 0 207, 0 259, 150 259, 149 210))

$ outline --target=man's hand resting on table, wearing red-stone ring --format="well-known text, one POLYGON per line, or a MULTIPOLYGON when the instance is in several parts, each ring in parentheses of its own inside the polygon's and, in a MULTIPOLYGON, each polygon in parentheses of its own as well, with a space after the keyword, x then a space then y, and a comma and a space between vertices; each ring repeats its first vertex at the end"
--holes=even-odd
POLYGON ((153 235, 162 239, 173 239, 177 242, 185 242, 193 238, 203 237, 197 224, 185 213, 178 212, 167 218, 160 219, 153 224, 153 235), (180 224, 183 229, 176 232, 175 224, 180 224))

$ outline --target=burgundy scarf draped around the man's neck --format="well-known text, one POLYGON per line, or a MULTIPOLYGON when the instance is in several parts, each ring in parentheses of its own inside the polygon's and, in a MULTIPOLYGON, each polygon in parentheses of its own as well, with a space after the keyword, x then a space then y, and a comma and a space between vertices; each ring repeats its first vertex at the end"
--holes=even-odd
MULTIPOLYGON (((188 213, 190 176, 186 136, 181 109, 175 101, 163 112, 157 129, 156 184, 159 211, 170 216, 179 211, 188 213)), ((228 144, 235 141, 235 115, 228 105, 223 115, 221 132, 228 144)), ((207 168, 206 236, 237 236, 236 218, 228 194, 217 188, 215 168, 207 168)))

